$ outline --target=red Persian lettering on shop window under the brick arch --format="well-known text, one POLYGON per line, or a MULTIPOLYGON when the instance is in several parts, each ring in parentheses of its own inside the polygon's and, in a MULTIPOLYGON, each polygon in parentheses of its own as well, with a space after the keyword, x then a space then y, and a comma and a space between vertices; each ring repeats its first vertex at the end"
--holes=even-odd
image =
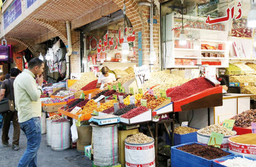
MULTIPOLYGON (((127 32, 126 27, 126 32, 127 32)), ((132 28, 129 28, 129 31, 131 31, 132 28)), ((114 46, 114 38, 111 37, 110 40, 108 40, 108 32, 104 35, 103 40, 99 40, 99 43, 97 44, 97 53, 100 54, 101 52, 105 52, 107 49, 109 50, 112 46, 114 46, 114 50, 118 49, 118 43, 122 44, 124 43, 124 38, 121 36, 121 29, 118 31, 118 38, 115 39, 115 46, 114 46), (103 41, 103 44, 102 44, 103 41)), ((135 41, 135 32, 132 31, 132 34, 127 34, 127 41, 128 43, 135 41)))

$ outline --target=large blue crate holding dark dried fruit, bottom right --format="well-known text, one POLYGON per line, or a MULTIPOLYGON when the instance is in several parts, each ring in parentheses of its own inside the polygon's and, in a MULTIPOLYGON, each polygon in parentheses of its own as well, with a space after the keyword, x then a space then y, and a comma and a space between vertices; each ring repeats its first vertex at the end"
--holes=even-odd
MULTIPOLYGON (((181 144, 178 146, 171 147, 171 166, 195 166, 195 167, 205 167, 205 166, 212 166, 213 160, 208 160, 203 157, 199 157, 197 155, 190 154, 189 152, 184 152, 179 149, 178 147, 189 145, 189 144, 200 144, 197 142, 191 142, 186 144, 181 144)), ((203 144, 201 144, 203 145, 203 144)), ((228 152, 228 151, 225 151, 228 152)), ((230 153, 230 152, 228 152, 230 153)), ((230 153, 230 155, 227 155, 225 157, 233 156, 234 154, 230 153)), ((224 158, 224 157, 223 157, 224 158)))

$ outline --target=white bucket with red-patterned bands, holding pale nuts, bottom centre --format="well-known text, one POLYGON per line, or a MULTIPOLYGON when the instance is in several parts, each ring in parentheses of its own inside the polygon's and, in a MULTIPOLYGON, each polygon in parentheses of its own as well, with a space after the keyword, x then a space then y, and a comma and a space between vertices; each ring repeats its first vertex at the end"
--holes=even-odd
POLYGON ((124 140, 126 166, 156 166, 154 139, 151 143, 130 144, 124 140))

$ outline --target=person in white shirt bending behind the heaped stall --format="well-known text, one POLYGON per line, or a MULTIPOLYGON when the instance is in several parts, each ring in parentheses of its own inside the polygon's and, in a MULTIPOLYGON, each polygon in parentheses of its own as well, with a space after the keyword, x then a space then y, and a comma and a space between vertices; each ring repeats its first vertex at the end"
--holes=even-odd
POLYGON ((96 87, 103 89, 107 87, 108 84, 113 83, 116 80, 116 77, 112 73, 108 73, 108 67, 104 66, 101 69, 102 74, 100 74, 96 87))

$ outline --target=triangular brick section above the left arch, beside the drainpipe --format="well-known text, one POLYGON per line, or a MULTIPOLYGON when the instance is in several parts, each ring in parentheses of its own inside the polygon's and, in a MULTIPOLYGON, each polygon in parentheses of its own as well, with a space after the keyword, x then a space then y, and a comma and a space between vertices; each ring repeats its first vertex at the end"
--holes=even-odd
POLYGON ((66 30, 66 22, 64 21, 49 21, 38 18, 31 18, 34 23, 40 24, 43 27, 47 27, 47 29, 54 32, 61 40, 67 45, 67 30, 66 30))

